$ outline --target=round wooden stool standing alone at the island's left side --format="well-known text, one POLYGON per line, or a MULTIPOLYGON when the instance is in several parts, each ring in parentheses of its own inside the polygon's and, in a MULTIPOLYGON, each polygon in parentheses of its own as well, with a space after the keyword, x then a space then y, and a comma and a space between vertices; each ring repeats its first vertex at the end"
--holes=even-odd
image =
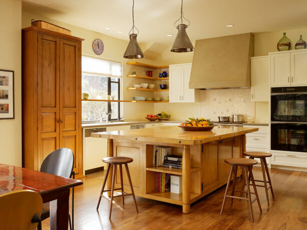
POLYGON ((107 167, 107 173, 105 175, 105 179, 104 179, 103 184, 102 184, 102 188, 101 188, 101 192, 100 192, 100 196, 99 196, 99 200, 98 200, 98 204, 97 204, 96 209, 98 210, 98 208, 99 208, 102 193, 105 192, 105 191, 111 191, 109 219, 111 219, 112 203, 113 203, 114 197, 122 196, 123 197, 123 204, 125 204, 124 196, 132 195, 133 200, 134 200, 134 204, 135 204, 135 208, 136 208, 136 213, 139 213, 138 206, 136 204, 136 200, 135 200, 135 196, 134 196, 134 191, 133 191, 133 186, 132 186, 131 177, 130 177, 130 173, 129 173, 129 168, 128 168, 128 163, 132 162, 133 159, 130 158, 130 157, 116 156, 116 157, 105 157, 105 158, 102 159, 102 161, 107 163, 108 167, 107 167), (104 190, 106 182, 107 182, 108 174, 109 174, 109 171, 110 171, 111 164, 113 165, 112 188, 104 190), (130 184, 131 193, 129 193, 129 194, 127 192, 124 192, 122 164, 125 165, 129 184, 130 184), (119 165, 119 172, 120 172, 120 178, 121 178, 121 187, 120 188, 114 188, 117 165, 119 165), (120 190, 120 189, 122 190, 122 194, 114 196, 114 190, 120 190))

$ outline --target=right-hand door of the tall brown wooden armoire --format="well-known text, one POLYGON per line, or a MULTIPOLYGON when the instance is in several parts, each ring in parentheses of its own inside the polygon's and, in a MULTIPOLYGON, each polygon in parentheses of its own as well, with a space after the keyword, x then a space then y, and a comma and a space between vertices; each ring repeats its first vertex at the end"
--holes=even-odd
POLYGON ((61 39, 60 47, 60 147, 73 151, 79 173, 79 43, 61 39))

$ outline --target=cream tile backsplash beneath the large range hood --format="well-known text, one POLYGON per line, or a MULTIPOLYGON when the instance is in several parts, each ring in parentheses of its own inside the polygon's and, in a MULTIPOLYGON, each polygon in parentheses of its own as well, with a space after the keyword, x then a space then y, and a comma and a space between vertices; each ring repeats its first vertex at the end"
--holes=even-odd
POLYGON ((218 121, 218 116, 243 114, 255 117, 255 104, 250 101, 250 89, 218 89, 200 92, 200 113, 202 117, 218 121))

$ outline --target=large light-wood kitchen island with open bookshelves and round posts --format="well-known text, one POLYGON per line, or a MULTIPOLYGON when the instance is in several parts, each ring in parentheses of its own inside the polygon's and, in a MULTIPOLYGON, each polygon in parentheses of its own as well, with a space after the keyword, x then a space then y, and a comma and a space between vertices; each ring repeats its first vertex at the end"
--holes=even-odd
MULTIPOLYGON (((191 203, 227 183, 230 165, 224 159, 242 157, 245 134, 255 131, 258 128, 215 126, 212 131, 191 132, 165 126, 92 133, 92 137, 108 139, 108 156, 133 158, 128 166, 135 195, 182 205, 182 212, 189 213, 191 203), (154 145, 170 146, 172 154, 182 155, 182 169, 153 166, 154 145), (182 193, 156 191, 155 172, 182 175, 182 193)), ((238 170, 240 175, 241 168, 238 170)), ((128 178, 123 176, 124 189, 129 191, 128 178)), ((115 183, 120 187, 119 172, 115 183)))

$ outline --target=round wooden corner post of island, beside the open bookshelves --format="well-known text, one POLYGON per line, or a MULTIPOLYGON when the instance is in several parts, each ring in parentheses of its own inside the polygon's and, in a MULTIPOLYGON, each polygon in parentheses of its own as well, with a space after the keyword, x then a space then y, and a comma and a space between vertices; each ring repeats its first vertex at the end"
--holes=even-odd
POLYGON ((182 155, 182 212, 189 213, 191 189, 190 145, 183 145, 182 155))

